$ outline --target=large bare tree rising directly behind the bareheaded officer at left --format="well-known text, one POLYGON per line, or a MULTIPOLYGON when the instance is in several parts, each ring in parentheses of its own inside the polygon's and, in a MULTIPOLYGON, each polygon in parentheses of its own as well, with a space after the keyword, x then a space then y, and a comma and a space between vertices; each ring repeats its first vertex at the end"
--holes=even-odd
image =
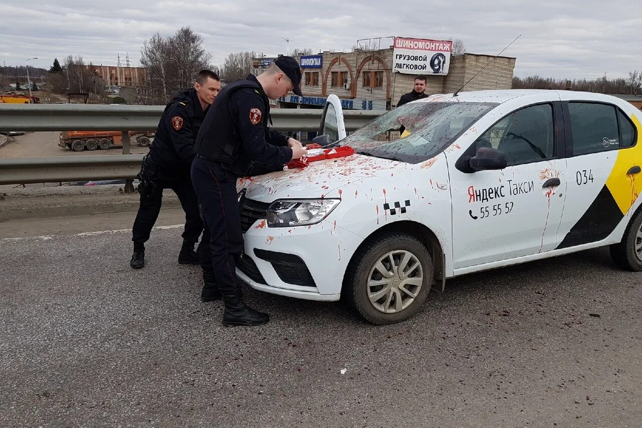
POLYGON ((141 66, 147 69, 146 86, 137 102, 165 104, 173 94, 191 87, 198 71, 207 68, 212 56, 203 48, 203 38, 189 27, 171 37, 155 33, 143 42, 141 66))

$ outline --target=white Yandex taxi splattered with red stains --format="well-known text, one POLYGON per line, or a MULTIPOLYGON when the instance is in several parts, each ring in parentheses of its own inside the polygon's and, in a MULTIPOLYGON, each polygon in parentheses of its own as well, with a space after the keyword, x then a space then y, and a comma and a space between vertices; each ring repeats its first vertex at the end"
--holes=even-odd
POLYGON ((471 272, 602 245, 642 271, 641 115, 603 94, 471 91, 345 136, 330 96, 322 132, 356 153, 239 179, 238 275, 386 324, 471 272))

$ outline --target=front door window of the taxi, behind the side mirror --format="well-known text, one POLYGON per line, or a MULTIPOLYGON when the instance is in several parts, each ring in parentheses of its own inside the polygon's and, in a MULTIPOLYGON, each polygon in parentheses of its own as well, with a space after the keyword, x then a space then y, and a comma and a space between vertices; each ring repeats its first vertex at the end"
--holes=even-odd
POLYGON ((484 132, 476 145, 501 150, 507 165, 518 165, 553 157, 553 137, 553 107, 539 104, 508 114, 484 132))

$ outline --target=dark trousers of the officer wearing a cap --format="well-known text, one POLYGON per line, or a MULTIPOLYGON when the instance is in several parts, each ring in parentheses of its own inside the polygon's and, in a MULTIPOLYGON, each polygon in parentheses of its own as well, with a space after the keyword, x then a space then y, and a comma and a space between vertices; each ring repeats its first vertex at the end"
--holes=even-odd
POLYGON ((201 266, 204 271, 213 270, 223 294, 231 294, 237 289, 234 258, 243 252, 236 179, 236 175, 208 159, 197 156, 192 162, 192 183, 205 218, 200 247, 201 266), (205 242, 207 235, 210 236, 209 248, 205 242), (211 255, 210 260, 208 254, 211 255))

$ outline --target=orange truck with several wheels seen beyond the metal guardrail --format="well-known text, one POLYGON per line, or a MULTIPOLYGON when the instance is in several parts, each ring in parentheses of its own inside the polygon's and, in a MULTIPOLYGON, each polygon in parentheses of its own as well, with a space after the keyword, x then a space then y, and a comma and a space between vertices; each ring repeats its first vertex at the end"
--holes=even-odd
MULTIPOLYGON (((154 138, 152 131, 129 131, 128 134, 130 140, 136 141, 141 147, 148 147, 154 138)), ((110 147, 123 147, 123 137, 120 131, 62 131, 58 146, 74 152, 98 148, 107 150, 110 147)))

